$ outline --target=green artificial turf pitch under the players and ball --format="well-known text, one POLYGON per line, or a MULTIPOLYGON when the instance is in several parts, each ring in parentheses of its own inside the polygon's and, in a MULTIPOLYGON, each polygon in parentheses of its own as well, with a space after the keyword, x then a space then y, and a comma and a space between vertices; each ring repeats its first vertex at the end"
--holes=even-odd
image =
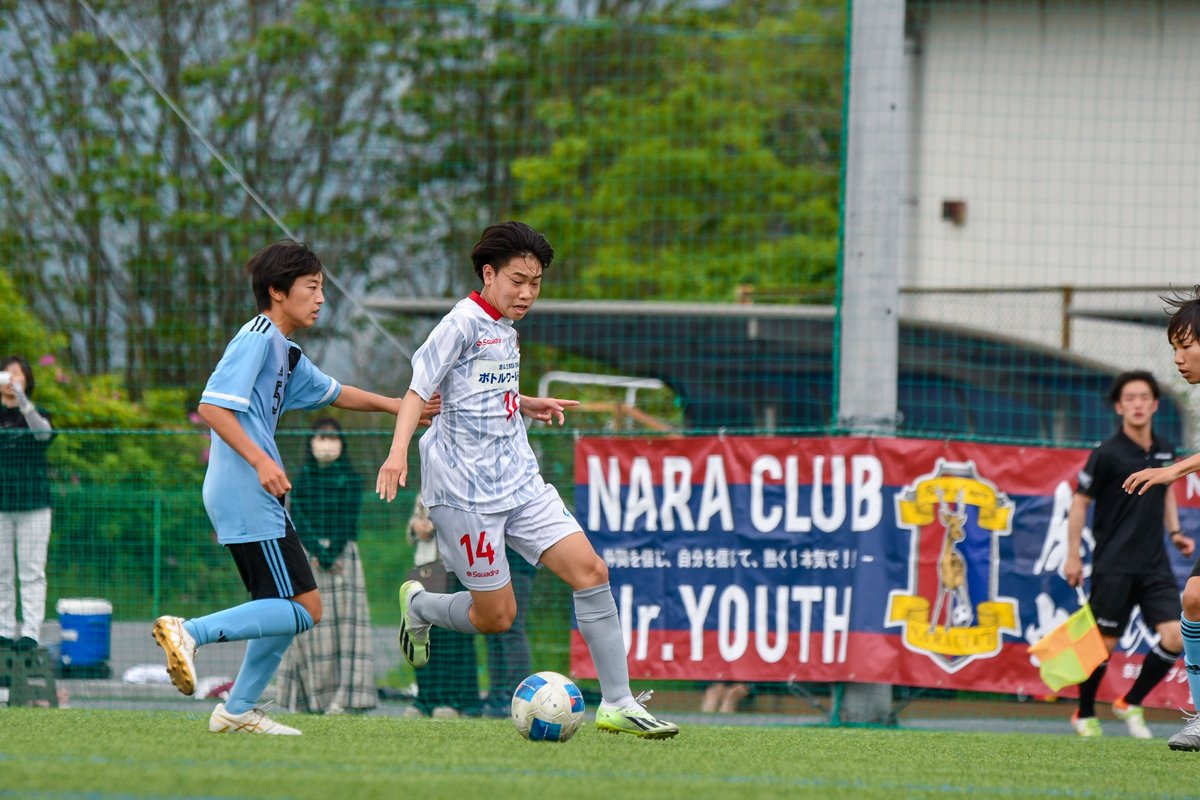
POLYGON ((304 736, 216 735, 206 714, 0 708, 0 798, 1196 798, 1162 740, 590 723, 528 742, 506 720, 276 715, 304 736))

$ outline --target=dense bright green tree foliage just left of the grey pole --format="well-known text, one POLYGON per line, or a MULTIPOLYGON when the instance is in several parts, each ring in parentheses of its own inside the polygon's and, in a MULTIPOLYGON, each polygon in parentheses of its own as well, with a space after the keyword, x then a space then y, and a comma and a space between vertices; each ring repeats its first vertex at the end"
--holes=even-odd
MULTIPOLYGON (((514 173, 526 216, 568 253, 557 290, 731 301, 739 285, 832 289, 840 5, 732 4, 688 22, 606 31, 583 49, 613 79, 553 84, 536 108, 551 140, 514 173)), ((580 35, 558 46, 578 52, 580 35)))

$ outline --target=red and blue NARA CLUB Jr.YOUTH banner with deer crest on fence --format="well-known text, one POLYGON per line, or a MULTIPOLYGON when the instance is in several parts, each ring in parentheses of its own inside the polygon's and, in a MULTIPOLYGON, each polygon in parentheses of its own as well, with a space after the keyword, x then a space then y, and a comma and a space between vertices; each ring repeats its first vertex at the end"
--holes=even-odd
MULTIPOLYGON (((635 678, 1046 696, 1028 645, 1078 608, 1062 566, 1086 459, 916 439, 586 438, 575 505, 635 678)), ((1196 531, 1190 479, 1175 492, 1196 531)), ((1182 588, 1192 563, 1169 551, 1182 588)), ((1132 685, 1154 640, 1135 612, 1100 699, 1132 685)), ((595 676, 577 631, 571 669, 595 676)), ((1182 661, 1146 704, 1190 705, 1182 661)))

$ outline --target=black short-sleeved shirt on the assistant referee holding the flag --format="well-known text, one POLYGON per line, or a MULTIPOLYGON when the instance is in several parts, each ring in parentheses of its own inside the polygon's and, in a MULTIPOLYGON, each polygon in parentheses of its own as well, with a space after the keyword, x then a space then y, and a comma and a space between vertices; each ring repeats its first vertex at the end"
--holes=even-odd
POLYGON ((1175 461, 1170 443, 1153 437, 1150 450, 1123 431, 1092 451, 1079 474, 1076 492, 1096 501, 1092 512, 1093 573, 1144 575, 1170 571, 1163 540, 1165 486, 1152 486, 1145 494, 1128 494, 1124 480, 1147 467, 1166 467, 1175 461))

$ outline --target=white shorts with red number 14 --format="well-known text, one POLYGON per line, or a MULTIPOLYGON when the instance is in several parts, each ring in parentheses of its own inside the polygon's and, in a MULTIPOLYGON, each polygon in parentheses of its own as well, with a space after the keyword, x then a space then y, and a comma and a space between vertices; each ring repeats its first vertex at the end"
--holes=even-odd
POLYGON ((476 591, 492 591, 509 582, 505 543, 536 566, 547 548, 583 530, 550 483, 533 500, 509 511, 478 513, 437 505, 430 506, 430 519, 437 527, 446 570, 476 591))

